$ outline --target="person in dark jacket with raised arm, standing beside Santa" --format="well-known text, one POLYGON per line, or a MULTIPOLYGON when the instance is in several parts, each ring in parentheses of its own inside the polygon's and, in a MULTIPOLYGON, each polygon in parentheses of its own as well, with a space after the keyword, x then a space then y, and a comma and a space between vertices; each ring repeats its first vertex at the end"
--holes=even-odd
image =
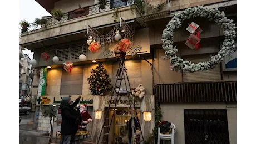
POLYGON ((74 108, 80 100, 80 96, 71 105, 71 97, 63 97, 60 105, 61 108, 61 144, 70 144, 73 133, 77 130, 76 123, 78 118, 74 108))

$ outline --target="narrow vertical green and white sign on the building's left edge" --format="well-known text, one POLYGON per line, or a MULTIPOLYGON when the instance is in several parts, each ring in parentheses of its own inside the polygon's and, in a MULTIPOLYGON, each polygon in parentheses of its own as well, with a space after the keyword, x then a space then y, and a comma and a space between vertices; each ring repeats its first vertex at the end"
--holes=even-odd
POLYGON ((41 68, 40 69, 40 76, 39 76, 39 84, 38 84, 37 96, 45 95, 46 76, 47 76, 47 67, 41 68))

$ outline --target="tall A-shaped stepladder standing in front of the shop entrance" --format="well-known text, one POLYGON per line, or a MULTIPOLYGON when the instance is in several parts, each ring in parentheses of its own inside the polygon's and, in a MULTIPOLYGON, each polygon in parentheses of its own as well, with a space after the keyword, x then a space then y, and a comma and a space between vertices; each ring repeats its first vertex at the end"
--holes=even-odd
MULTIPOLYGON (((115 111, 116 109, 116 105, 117 102, 119 100, 119 97, 121 96, 127 96, 128 97, 128 101, 129 101, 129 109, 130 109, 130 113, 131 113, 131 117, 138 117, 138 114, 136 112, 136 107, 134 102, 132 101, 132 89, 130 86, 130 81, 129 81, 129 76, 127 74, 127 69, 125 68, 125 59, 122 59, 120 61, 119 64, 119 68, 117 70, 116 73, 116 77, 115 77, 115 85, 113 86, 114 88, 112 89, 111 92, 111 97, 110 97, 110 101, 109 102, 109 106, 107 107, 106 112, 105 112, 105 118, 104 118, 104 124, 101 128, 101 131, 97 137, 97 143, 103 143, 103 144, 107 144, 109 143, 109 135, 110 135, 110 129, 111 129, 111 124, 112 121, 114 121, 114 115, 115 115, 115 111), (124 83, 121 88, 121 84, 124 83), (120 89, 125 89, 126 90, 126 94, 120 94, 120 89), (110 113, 110 111, 113 111, 110 113)), ((131 127, 132 130, 134 131, 132 132, 132 137, 134 136, 133 134, 135 134, 137 136, 137 131, 139 130, 140 133, 140 138, 135 138, 136 142, 134 141, 134 138, 131 138, 132 142, 131 143, 136 143, 139 144, 141 142, 144 142, 144 137, 143 134, 141 132, 141 126, 140 124, 137 124, 137 126, 135 126, 135 120, 131 119, 131 127), (136 131, 137 130, 137 131, 136 131)), ((139 123, 139 122, 138 122, 139 123)))

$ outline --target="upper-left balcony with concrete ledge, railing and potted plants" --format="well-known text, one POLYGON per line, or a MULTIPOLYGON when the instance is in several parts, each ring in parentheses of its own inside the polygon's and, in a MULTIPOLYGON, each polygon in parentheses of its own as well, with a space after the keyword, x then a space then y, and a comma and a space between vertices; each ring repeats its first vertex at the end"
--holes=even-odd
MULTIPOLYGON (((65 13, 60 21, 54 17, 45 17, 47 23, 38 26, 33 23, 28 32, 21 34, 22 47, 28 48, 34 43, 42 43, 46 39, 56 39, 67 35, 86 32, 87 25, 99 27, 101 25, 114 24, 115 13, 118 18, 121 16, 124 20, 135 19, 140 16, 139 9, 135 4, 120 1, 107 1, 105 8, 100 8, 100 4, 84 7, 83 14, 75 14, 74 11, 65 13)), ((119 21, 119 19, 117 21, 119 21)), ((84 35, 83 35, 84 38, 84 35)), ((31 46, 32 47, 32 46, 31 46)), ((30 49, 30 48, 29 48, 30 49)))

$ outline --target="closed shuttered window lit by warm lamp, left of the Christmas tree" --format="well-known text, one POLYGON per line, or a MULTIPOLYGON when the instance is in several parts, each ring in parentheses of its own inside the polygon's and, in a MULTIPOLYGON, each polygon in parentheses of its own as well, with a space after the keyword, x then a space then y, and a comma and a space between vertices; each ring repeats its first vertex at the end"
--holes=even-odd
POLYGON ((60 95, 81 95, 83 89, 83 66, 74 66, 71 73, 62 70, 60 95))

